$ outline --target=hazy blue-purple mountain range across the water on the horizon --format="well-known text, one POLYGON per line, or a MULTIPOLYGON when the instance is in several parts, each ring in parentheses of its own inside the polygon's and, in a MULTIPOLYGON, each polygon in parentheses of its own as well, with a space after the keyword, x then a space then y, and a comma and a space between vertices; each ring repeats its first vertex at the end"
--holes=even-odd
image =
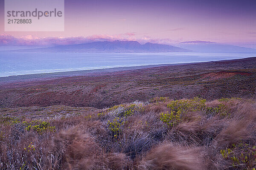
POLYGON ((16 52, 256 52, 256 49, 211 41, 185 41, 175 46, 137 41, 98 41, 54 47, 15 49, 16 52))

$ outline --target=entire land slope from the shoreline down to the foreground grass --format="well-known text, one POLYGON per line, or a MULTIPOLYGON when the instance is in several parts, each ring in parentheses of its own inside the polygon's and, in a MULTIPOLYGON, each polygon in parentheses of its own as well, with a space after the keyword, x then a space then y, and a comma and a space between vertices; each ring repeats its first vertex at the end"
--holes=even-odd
POLYGON ((255 79, 248 58, 0 85, 0 169, 253 170, 255 79))

